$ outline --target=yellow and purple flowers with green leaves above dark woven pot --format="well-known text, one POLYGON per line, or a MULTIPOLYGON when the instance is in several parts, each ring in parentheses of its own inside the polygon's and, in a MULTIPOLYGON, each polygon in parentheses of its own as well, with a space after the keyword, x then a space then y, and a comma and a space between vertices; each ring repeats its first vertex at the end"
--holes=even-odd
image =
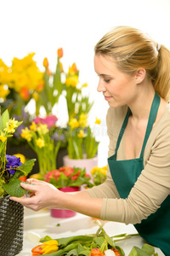
POLYGON ((20 157, 6 154, 7 139, 13 136, 19 125, 17 120, 9 119, 8 110, 0 115, 0 197, 24 195, 26 190, 20 187, 19 177, 27 176, 34 165, 35 160, 22 164, 20 157))

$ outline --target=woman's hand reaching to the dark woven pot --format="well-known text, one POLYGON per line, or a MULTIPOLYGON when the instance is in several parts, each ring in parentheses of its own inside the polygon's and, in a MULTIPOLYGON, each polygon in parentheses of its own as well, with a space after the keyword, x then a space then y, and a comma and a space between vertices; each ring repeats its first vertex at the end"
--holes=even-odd
POLYGON ((30 197, 11 196, 10 200, 18 201, 24 207, 30 208, 34 211, 39 211, 45 207, 53 207, 54 203, 56 207, 57 201, 56 197, 54 200, 54 195, 56 193, 60 193, 58 189, 50 183, 34 178, 27 179, 26 182, 30 184, 20 183, 20 186, 28 191, 27 194, 30 195, 30 197))

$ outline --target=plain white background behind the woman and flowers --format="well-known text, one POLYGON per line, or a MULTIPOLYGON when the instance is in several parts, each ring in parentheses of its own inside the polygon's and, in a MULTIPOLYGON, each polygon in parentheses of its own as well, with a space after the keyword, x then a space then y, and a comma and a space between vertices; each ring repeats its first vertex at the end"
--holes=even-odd
POLYGON ((40 68, 44 57, 52 69, 56 52, 64 49, 65 69, 77 63, 80 80, 88 82, 95 100, 93 116, 102 119, 99 131, 99 166, 106 164, 107 103, 97 93, 94 45, 111 27, 135 26, 170 49, 169 0, 0 0, 0 58, 10 65, 13 57, 35 52, 40 68))

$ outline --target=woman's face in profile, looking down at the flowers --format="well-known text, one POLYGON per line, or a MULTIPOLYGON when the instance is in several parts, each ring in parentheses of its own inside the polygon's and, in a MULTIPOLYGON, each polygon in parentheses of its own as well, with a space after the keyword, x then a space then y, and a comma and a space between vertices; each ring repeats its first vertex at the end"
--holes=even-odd
POLYGON ((122 73, 111 57, 94 55, 94 69, 99 76, 98 91, 112 108, 129 105, 136 97, 135 75, 122 73))

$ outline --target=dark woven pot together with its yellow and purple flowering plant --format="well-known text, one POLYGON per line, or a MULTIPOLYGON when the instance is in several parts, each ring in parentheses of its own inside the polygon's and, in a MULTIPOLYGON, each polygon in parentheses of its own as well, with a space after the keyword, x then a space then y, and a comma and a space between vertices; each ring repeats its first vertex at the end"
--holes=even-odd
POLYGON ((9 119, 8 110, 0 114, 0 237, 3 255, 15 255, 22 249, 24 207, 9 197, 26 194, 26 190, 20 187, 20 177, 31 172, 35 161, 22 164, 20 157, 6 154, 8 137, 13 136, 19 125, 17 120, 9 119))

